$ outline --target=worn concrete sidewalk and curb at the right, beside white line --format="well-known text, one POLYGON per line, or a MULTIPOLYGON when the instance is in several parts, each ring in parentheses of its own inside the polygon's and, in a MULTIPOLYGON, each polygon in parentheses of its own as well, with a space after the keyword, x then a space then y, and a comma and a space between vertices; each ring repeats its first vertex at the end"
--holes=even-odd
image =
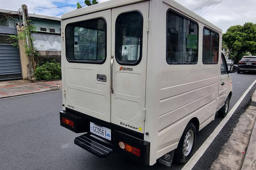
POLYGON ((256 91, 210 169, 256 170, 256 91))

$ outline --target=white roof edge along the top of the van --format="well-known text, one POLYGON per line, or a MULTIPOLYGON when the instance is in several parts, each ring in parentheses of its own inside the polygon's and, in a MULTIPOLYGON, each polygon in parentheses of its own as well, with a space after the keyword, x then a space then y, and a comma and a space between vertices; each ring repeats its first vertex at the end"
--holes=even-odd
MULTIPOLYGON (((86 7, 86 8, 75 9, 74 11, 63 14, 61 16, 61 20, 69 19, 69 18, 73 18, 73 17, 76 17, 76 16, 81 16, 81 15, 86 15, 86 14, 89 14, 89 13, 94 13, 94 12, 98 12, 98 11, 102 11, 102 10, 121 7, 121 6, 125 6, 125 5, 140 3, 140 2, 144 2, 144 1, 159 1, 159 0, 111 0, 111 1, 106 1, 106 2, 103 2, 103 3, 99 3, 99 4, 96 4, 96 5, 86 7)), ((212 23, 210 23, 209 21, 207 21, 203 17, 201 17, 198 14, 196 14, 195 12, 187 9, 186 7, 177 3, 176 1, 174 1, 174 0, 162 0, 162 2, 165 3, 165 4, 169 4, 174 9, 178 10, 179 12, 181 12, 185 15, 188 15, 192 19, 204 23, 207 27, 222 33, 222 30, 220 28, 216 27, 215 25, 213 25, 212 23)))

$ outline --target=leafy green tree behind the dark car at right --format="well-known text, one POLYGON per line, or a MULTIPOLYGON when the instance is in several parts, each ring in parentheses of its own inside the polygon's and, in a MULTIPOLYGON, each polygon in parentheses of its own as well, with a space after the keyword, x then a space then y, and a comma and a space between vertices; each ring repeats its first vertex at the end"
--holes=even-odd
POLYGON ((247 22, 244 26, 231 26, 223 34, 223 40, 234 55, 234 63, 238 63, 246 53, 256 55, 256 24, 247 22))

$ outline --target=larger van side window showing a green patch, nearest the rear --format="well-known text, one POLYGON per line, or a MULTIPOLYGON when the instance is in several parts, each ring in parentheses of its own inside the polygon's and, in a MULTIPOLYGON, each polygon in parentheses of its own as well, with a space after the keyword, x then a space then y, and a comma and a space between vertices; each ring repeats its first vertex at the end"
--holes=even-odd
POLYGON ((197 64, 198 25, 172 10, 167 11, 166 61, 168 64, 197 64))

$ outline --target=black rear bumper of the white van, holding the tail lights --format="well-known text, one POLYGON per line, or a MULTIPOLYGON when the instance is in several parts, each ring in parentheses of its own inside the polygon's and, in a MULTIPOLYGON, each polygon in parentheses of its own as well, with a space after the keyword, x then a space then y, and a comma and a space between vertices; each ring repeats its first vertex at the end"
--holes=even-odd
MULTIPOLYGON (((87 147, 90 145, 104 145, 104 148, 109 148, 110 150, 119 152, 123 155, 126 155, 127 157, 130 157, 131 159, 135 160, 136 162, 140 162, 144 165, 149 164, 149 157, 150 157, 150 142, 143 140, 144 135, 138 132, 134 132, 132 130, 114 125, 112 123, 104 122, 100 119, 97 119, 95 117, 88 116, 86 114, 79 113, 77 111, 68 109, 66 111, 60 111, 60 126, 65 127, 75 133, 86 133, 81 136, 80 138, 90 138, 90 140, 87 140, 86 143, 78 142, 77 139, 75 139, 75 144, 79 145, 79 147, 91 152, 92 154, 99 156, 99 157, 106 157, 110 155, 110 152, 106 152, 105 155, 97 155, 97 151, 95 148, 87 147), (63 123, 62 119, 66 118, 73 122, 73 127, 63 123), (93 122, 99 126, 103 126, 106 128, 111 129, 111 141, 103 139, 99 136, 96 136, 94 134, 90 133, 90 122, 93 122), (95 138, 96 136, 96 138, 95 138), (100 141, 99 141, 100 140, 100 141), (127 143, 131 145, 132 147, 135 147, 140 150, 140 156, 134 155, 130 152, 127 152, 123 149, 121 149, 118 145, 118 143, 122 141, 124 143, 127 143), (91 143, 90 143, 91 142, 91 143), (87 146, 86 146, 87 145, 87 146)), ((79 138, 77 137, 77 138, 79 138)), ((97 148, 96 148, 97 149, 97 148)), ((102 152, 101 152, 102 153, 102 152)))

